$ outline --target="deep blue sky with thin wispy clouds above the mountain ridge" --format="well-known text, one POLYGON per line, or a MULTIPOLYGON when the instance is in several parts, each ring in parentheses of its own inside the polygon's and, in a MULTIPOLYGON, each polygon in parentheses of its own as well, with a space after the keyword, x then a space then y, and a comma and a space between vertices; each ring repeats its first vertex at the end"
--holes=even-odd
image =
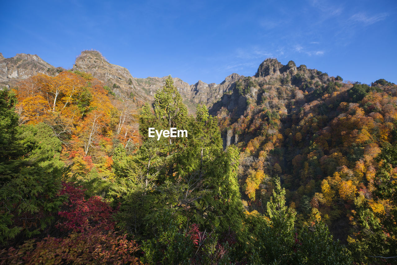
POLYGON ((396 14, 395 0, 4 1, 0 52, 71 68, 95 49, 134 77, 189 84, 252 76, 268 57, 397 83, 396 14))

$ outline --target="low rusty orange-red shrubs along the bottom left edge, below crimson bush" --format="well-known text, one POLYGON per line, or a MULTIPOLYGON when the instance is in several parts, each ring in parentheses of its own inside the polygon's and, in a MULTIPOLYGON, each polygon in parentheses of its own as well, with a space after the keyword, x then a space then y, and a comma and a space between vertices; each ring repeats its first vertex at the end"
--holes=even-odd
POLYGON ((29 240, 17 249, 0 251, 0 264, 142 264, 139 246, 126 235, 90 230, 66 238, 29 240))

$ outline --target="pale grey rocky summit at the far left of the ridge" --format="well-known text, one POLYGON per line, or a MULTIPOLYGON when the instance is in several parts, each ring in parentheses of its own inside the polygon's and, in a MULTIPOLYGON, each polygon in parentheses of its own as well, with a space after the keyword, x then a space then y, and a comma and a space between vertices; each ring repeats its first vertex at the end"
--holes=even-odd
POLYGON ((4 58, 0 53, 0 82, 16 82, 36 74, 55 76, 57 69, 37 55, 18 53, 15 57, 4 58))

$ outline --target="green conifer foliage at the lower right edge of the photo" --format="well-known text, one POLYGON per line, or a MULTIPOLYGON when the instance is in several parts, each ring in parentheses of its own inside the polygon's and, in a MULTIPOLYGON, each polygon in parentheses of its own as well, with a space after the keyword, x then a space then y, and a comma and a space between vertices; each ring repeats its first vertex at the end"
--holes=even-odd
POLYGON ((375 160, 380 167, 374 179, 374 200, 388 200, 389 209, 374 212, 368 201, 355 200, 355 236, 349 236, 348 241, 355 259, 364 263, 382 263, 380 256, 397 256, 397 145, 385 142, 375 160))

